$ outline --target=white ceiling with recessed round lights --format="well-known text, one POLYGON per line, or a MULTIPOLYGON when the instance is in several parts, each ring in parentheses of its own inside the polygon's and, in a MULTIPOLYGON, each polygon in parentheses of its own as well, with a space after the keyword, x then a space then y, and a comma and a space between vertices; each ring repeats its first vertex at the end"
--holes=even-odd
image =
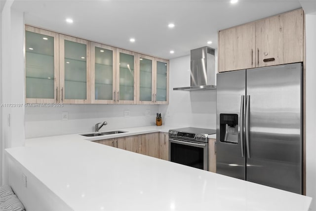
POLYGON ((171 59, 217 48, 218 30, 300 8, 299 0, 15 0, 25 23, 171 59), (74 23, 66 23, 66 18, 74 23), (169 29, 168 23, 175 27, 169 29), (135 43, 130 43, 130 38, 135 43), (208 45, 206 42, 212 41, 208 45), (175 53, 170 54, 173 50, 175 53))

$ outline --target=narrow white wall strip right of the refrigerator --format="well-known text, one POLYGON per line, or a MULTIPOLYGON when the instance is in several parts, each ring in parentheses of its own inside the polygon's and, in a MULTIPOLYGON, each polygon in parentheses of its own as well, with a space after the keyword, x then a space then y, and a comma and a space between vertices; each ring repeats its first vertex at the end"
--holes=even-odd
POLYGON ((306 195, 316 210, 316 14, 306 14, 306 195))

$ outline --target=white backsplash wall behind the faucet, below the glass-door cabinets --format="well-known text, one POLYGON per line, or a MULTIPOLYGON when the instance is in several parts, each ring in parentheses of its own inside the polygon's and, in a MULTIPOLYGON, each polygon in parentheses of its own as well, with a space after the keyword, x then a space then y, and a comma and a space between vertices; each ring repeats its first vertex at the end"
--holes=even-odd
POLYGON ((84 133, 94 130, 94 125, 107 121, 102 130, 156 125, 158 105, 64 105, 63 107, 26 107, 26 138, 61 134, 84 133), (124 117, 124 110, 130 117, 124 117), (146 116, 146 110, 151 115, 146 116), (68 121, 62 112, 68 112, 68 121))

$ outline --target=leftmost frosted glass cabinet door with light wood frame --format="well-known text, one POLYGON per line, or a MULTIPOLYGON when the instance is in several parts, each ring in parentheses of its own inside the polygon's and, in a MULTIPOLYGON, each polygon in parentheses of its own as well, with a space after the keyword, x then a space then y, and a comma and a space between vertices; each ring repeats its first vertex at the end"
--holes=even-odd
POLYGON ((26 103, 57 103, 58 34, 25 26, 26 103))

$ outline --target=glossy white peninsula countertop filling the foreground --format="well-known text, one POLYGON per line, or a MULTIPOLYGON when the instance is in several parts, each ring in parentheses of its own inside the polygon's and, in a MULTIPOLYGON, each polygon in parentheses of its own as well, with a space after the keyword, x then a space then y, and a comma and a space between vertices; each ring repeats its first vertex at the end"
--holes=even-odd
POLYGON ((29 139, 6 154, 75 211, 307 211, 311 203, 310 197, 84 139, 29 139))

